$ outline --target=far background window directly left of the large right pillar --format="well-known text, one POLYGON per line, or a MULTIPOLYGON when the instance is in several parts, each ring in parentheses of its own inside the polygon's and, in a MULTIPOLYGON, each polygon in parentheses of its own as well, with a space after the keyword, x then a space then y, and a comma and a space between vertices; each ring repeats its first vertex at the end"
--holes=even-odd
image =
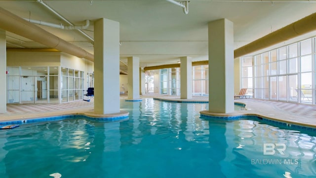
POLYGON ((208 65, 193 66, 193 95, 208 96, 208 65))

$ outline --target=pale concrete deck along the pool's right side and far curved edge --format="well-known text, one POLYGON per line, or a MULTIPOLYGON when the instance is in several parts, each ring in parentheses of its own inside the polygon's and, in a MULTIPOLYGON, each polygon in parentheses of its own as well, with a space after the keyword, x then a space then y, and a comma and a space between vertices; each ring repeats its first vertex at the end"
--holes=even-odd
MULTIPOLYGON (((180 96, 152 96, 159 100, 177 102, 205 102, 208 97, 195 96, 192 99, 180 99, 180 96)), ((252 115, 266 119, 271 119, 287 124, 295 124, 316 128, 316 105, 290 103, 282 101, 271 101, 261 99, 235 99, 236 103, 245 104, 246 110, 236 110, 232 113, 213 113, 201 111, 200 113, 208 116, 230 117, 252 115)))

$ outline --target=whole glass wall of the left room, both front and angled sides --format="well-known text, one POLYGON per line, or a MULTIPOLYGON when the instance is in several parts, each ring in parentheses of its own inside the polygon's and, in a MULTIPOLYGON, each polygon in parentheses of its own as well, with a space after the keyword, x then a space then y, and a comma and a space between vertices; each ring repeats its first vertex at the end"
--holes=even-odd
POLYGON ((82 71, 58 66, 8 67, 7 71, 7 103, 59 103, 83 98, 82 71))

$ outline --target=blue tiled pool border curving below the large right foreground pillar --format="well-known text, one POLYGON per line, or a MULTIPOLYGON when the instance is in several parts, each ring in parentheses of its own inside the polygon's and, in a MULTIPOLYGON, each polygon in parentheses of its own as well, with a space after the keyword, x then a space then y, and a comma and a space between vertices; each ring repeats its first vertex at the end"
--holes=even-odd
POLYGON ((262 121, 263 123, 266 124, 271 124, 272 126, 280 126, 284 129, 296 129, 296 130, 304 130, 304 131, 309 131, 309 132, 316 132, 316 128, 314 127, 309 127, 309 126, 303 126, 303 125, 298 125, 298 124, 293 124, 289 122, 280 122, 276 121, 273 119, 267 119, 261 116, 256 116, 256 115, 238 115, 238 116, 211 116, 211 115, 205 115, 205 114, 200 114, 201 119, 217 119, 217 120, 225 120, 225 121, 235 121, 235 120, 243 120, 243 119, 248 119, 248 120, 253 120, 253 121, 262 121))

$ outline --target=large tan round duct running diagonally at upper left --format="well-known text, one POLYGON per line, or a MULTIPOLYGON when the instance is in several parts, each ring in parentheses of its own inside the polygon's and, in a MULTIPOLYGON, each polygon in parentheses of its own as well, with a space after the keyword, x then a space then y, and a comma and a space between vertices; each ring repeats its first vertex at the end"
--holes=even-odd
POLYGON ((94 56, 91 53, 64 41, 63 39, 41 29, 39 26, 12 14, 2 7, 0 7, 0 28, 48 47, 58 49, 62 52, 66 52, 80 58, 85 58, 90 61, 94 60, 94 56))

